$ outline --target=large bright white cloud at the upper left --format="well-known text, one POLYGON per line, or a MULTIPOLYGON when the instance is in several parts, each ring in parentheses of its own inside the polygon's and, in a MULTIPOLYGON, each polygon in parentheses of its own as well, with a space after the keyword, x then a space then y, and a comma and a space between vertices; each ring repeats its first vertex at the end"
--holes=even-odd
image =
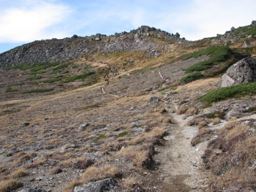
POLYGON ((24 1, 19 7, 5 9, 0 16, 0 42, 65 37, 63 32, 47 29, 63 21, 69 12, 65 5, 43 1, 24 1))

